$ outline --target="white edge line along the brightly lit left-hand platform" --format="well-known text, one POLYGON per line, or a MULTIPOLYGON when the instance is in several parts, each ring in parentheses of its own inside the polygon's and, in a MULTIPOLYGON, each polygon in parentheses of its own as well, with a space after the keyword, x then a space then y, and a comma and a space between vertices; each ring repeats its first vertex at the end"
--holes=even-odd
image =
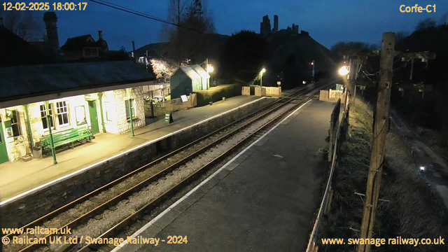
POLYGON ((62 176, 62 177, 60 177, 60 178, 58 178, 58 179, 55 179, 55 180, 50 181, 50 182, 48 182, 48 183, 44 183, 44 184, 41 185, 41 186, 38 186, 38 187, 33 188, 33 189, 31 189, 31 190, 27 190, 25 193, 21 193, 20 195, 15 195, 14 197, 9 198, 8 200, 4 200, 4 201, 0 202, 0 206, 2 206, 3 204, 8 204, 9 202, 13 202, 14 200, 18 200, 18 199, 20 199, 21 197, 24 197, 25 195, 28 195, 28 194, 30 194, 30 193, 33 193, 33 192, 35 192, 36 190, 40 190, 40 189, 42 189, 42 188, 51 186, 51 185, 54 184, 54 183, 57 183, 57 182, 59 182, 59 181, 63 181, 64 179, 69 179, 70 177, 75 176, 76 174, 80 174, 81 172, 85 172, 85 171, 87 171, 87 170, 89 170, 89 169, 92 169, 92 168, 98 166, 98 165, 102 165, 102 164, 104 164, 105 162, 108 162, 108 161, 110 161, 110 160, 114 160, 114 159, 116 159, 116 158, 119 158, 119 157, 121 157, 121 156, 123 156, 123 155, 126 155, 127 153, 130 153, 130 152, 132 152, 132 151, 135 151, 135 150, 137 150, 137 149, 139 149, 139 148, 142 148, 142 147, 148 146, 148 145, 150 145, 150 144, 153 144, 153 143, 155 143, 156 141, 160 141, 160 140, 162 140, 162 139, 166 139, 167 137, 171 137, 171 136, 174 135, 174 134, 178 134, 179 132, 183 132, 184 130, 188 130, 188 129, 190 129, 190 127, 195 127, 195 126, 197 126, 197 125, 201 125, 202 123, 205 123, 205 122, 207 122, 207 121, 209 121, 209 120, 211 120, 211 119, 213 119, 213 118, 217 118, 217 117, 219 117, 219 116, 223 116, 223 115, 225 115, 226 113, 230 113, 230 112, 232 112, 232 111, 235 111, 235 110, 237 110, 237 109, 240 109, 240 108, 242 108, 242 107, 244 107, 244 106, 248 106, 249 104, 253 104, 254 102, 258 102, 258 101, 260 101, 261 99, 265 99, 265 98, 267 98, 267 97, 261 97, 260 99, 256 99, 256 100, 254 100, 254 101, 252 101, 252 102, 248 102, 248 103, 243 104, 243 105, 241 105, 241 106, 238 106, 238 107, 236 107, 236 108, 234 108, 234 109, 230 109, 229 111, 225 111, 225 112, 223 112, 223 113, 219 113, 218 115, 215 115, 215 116, 212 116, 211 118, 207 118, 207 119, 205 119, 205 120, 202 120, 202 121, 200 121, 199 123, 195 123, 195 124, 190 125, 190 126, 188 126, 188 127, 184 127, 184 128, 182 128, 181 130, 176 130, 175 132, 166 134, 165 136, 163 136, 163 137, 159 137, 158 139, 154 139, 154 140, 151 140, 151 141, 147 141, 147 142, 144 143, 144 144, 141 144, 141 145, 139 145, 139 146, 136 146, 136 147, 134 147, 134 148, 131 148, 131 149, 127 150, 127 151, 123 151, 122 153, 118 153, 117 155, 113 155, 112 157, 106 158, 105 160, 101 160, 101 161, 99 161, 99 162, 96 162, 96 163, 94 163, 94 164, 92 164, 92 165, 89 165, 89 166, 87 166, 87 167, 84 167, 83 169, 79 169, 79 170, 76 171, 76 172, 72 172, 71 174, 66 174, 65 176, 62 176))

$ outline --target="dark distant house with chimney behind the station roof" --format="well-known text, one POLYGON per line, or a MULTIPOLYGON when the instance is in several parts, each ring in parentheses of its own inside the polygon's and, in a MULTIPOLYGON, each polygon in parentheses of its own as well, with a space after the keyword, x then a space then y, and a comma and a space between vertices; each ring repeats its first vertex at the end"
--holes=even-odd
POLYGON ((102 31, 98 31, 98 41, 87 34, 68 38, 61 47, 64 60, 99 59, 108 51, 109 47, 103 39, 102 31))

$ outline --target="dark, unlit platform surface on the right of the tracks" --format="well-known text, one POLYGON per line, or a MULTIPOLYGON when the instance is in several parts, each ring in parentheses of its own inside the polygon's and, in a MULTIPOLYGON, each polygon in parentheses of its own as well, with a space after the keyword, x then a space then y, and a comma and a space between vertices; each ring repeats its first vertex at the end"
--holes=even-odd
POLYGON ((113 251, 305 251, 328 172, 335 104, 311 100, 113 251), (167 244, 167 237, 187 244, 167 244), (165 240, 165 242, 163 241, 165 240))

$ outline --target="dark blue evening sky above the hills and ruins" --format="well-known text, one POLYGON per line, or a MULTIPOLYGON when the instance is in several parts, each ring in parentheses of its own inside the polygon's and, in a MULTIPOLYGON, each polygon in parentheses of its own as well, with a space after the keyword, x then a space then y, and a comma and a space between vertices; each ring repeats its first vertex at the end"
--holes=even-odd
MULTIPOLYGON (((167 19, 168 1, 109 0, 162 19, 167 19)), ((131 41, 135 41, 136 48, 160 42, 160 22, 87 2, 84 11, 57 12, 61 45, 71 36, 92 34, 97 39, 98 30, 103 31, 111 50, 118 50, 122 45, 131 50, 131 41)), ((279 15, 279 29, 286 29, 294 22, 300 30, 309 31, 310 36, 327 48, 338 41, 379 44, 384 31, 413 31, 419 20, 434 18, 438 21, 443 13, 448 12, 448 4, 444 0, 208 0, 207 6, 214 17, 216 31, 220 34, 231 35, 241 29, 260 32, 262 16, 269 15, 273 26, 276 14, 279 15), (435 4, 436 12, 400 13, 401 4, 416 3, 423 7, 435 4)))

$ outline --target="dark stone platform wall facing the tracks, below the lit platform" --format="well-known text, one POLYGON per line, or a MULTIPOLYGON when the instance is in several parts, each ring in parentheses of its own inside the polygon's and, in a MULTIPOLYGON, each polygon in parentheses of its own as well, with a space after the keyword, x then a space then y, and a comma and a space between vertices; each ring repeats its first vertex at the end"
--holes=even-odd
POLYGON ((118 179, 120 176, 132 172, 134 169, 148 164, 160 155, 180 148, 272 102, 274 102, 274 99, 260 99, 258 102, 242 106, 200 125, 186 128, 186 130, 170 137, 141 146, 141 148, 125 155, 99 163, 74 176, 39 188, 23 197, 3 204, 0 208, 2 227, 18 228, 25 225, 114 179, 118 179))

